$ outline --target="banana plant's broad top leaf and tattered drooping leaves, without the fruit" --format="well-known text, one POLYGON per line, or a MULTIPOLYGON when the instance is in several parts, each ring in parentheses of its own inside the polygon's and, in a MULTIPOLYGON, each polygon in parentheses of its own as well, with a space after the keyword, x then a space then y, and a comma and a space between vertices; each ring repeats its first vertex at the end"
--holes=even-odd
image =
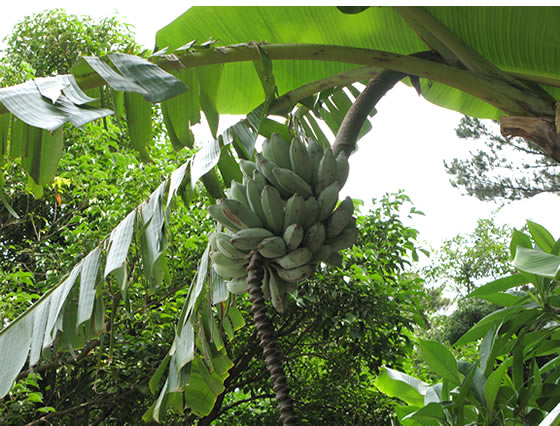
MULTIPOLYGON (((179 188, 202 180, 212 196, 224 198, 219 174, 227 186, 242 175, 232 151, 238 159, 252 161, 258 135, 271 138, 276 132, 291 139, 290 127, 269 115, 293 111, 303 131, 326 146, 330 138, 317 118, 324 120, 336 133, 335 155, 349 156, 357 137, 368 130, 362 123, 377 100, 403 80, 438 105, 501 119, 505 135, 523 135, 560 159, 559 13, 558 8, 526 7, 195 7, 158 32, 159 52, 147 60, 130 55, 84 58, 69 76, 0 89, 0 162, 21 158, 37 195, 56 174, 62 124, 82 125, 109 114, 108 107, 126 117, 144 159, 151 138, 150 103, 161 102, 176 149, 194 145, 191 126, 200 121, 201 112, 213 135, 57 287, 0 332, 0 361, 7 366, 0 373, 0 393, 7 392, 28 354, 33 365, 45 348, 75 348, 102 329, 104 308, 91 289, 114 274, 126 291, 134 232, 142 242, 148 281, 157 286, 165 279, 164 225, 179 188), (368 80, 364 96, 358 97, 359 89, 351 84, 368 80), (104 102, 92 107, 93 92, 104 102), (218 134, 224 113, 246 117, 218 134), (97 279, 103 259, 105 272, 97 279), (78 277, 81 308, 76 313, 67 301, 78 291, 78 277), (87 333, 80 337, 70 332, 81 324, 87 333)), ((9 208, 3 192, 0 199, 9 208)), ((175 342, 151 382, 156 390, 169 370, 147 413, 156 420, 166 407, 180 405, 178 395, 187 383, 187 405, 204 415, 227 375, 229 363, 215 333, 214 315, 225 324, 240 322, 234 321, 234 309, 213 312, 213 304, 228 296, 223 280, 208 273, 209 256, 210 249, 191 285, 175 342), (195 327, 197 336, 206 337, 193 337, 195 327)))

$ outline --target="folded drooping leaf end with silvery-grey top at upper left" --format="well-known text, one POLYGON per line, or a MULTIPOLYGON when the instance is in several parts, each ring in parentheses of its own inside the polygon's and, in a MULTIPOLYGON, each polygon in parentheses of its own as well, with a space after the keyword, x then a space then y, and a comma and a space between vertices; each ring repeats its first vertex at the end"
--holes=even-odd
POLYGON ((127 92, 129 132, 144 159, 149 158, 146 144, 151 139, 151 104, 147 101, 162 102, 185 90, 178 78, 132 55, 86 57, 72 72, 0 89, 0 164, 7 153, 10 159, 21 157, 35 185, 48 184, 56 175, 65 123, 79 127, 113 114, 110 109, 87 105, 96 101, 82 89, 88 79, 101 79, 114 90, 127 92))

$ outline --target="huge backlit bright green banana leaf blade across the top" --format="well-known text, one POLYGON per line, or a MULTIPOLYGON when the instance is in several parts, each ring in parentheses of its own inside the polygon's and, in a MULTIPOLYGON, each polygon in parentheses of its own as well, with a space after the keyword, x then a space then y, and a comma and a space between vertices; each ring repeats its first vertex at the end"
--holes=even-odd
MULTIPOLYGON (((426 11, 489 62, 517 77, 538 81, 560 99, 559 7, 427 7, 426 11), (546 83, 546 84, 545 84, 546 83)), ((429 50, 391 7, 371 7, 345 14, 336 7, 204 7, 189 9, 156 36, 158 48, 174 50, 197 39, 216 45, 251 41, 316 43, 361 47, 398 54, 429 50)), ((355 65, 326 61, 275 60, 274 76, 283 94, 312 80, 355 65)), ((422 81, 429 101, 479 118, 498 119, 503 111, 449 86, 422 81)), ((217 109, 246 114, 263 100, 253 65, 224 66, 217 109)))

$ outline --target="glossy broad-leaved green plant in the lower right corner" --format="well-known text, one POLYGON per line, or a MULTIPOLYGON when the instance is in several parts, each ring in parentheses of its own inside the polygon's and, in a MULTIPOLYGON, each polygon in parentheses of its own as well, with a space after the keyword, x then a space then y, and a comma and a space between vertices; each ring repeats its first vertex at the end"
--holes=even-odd
POLYGON ((385 367, 375 385, 406 403, 403 425, 556 424, 560 385, 560 239, 528 222, 514 231, 518 272, 473 291, 502 306, 467 331, 457 346, 480 340, 478 359, 458 361, 434 341, 419 342, 420 357, 439 377, 429 384, 385 367), (546 416, 546 417, 545 417, 546 416))

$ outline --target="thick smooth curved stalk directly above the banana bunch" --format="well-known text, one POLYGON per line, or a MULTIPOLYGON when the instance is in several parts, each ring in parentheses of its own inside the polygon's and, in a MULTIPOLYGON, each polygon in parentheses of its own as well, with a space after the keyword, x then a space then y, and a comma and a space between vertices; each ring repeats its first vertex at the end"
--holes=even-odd
POLYGON ((398 71, 383 70, 369 81, 364 91, 360 93, 346 113, 344 120, 342 120, 333 144, 335 156, 344 151, 350 157, 350 154, 356 148, 358 134, 370 111, 385 93, 406 75, 398 71))

